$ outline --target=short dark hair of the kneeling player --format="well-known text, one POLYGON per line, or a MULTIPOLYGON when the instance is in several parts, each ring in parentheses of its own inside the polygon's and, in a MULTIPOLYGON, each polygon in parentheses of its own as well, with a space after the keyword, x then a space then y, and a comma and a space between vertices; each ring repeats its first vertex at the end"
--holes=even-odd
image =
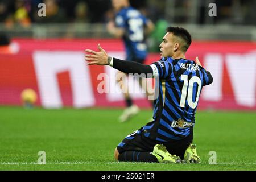
POLYGON ((184 40, 184 45, 181 47, 182 51, 186 52, 191 44, 191 35, 185 28, 181 27, 167 27, 166 32, 171 32, 175 36, 184 40))

